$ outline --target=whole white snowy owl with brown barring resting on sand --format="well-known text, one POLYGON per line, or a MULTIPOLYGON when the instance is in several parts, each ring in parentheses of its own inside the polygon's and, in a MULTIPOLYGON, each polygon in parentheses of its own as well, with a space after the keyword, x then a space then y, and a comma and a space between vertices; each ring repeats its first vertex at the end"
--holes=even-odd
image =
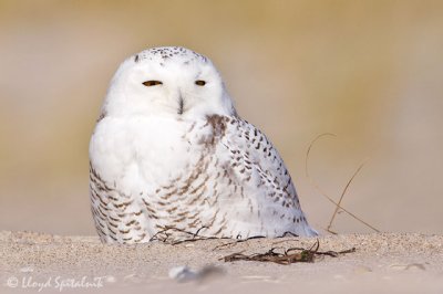
POLYGON ((107 243, 317 234, 276 148, 184 48, 120 65, 91 137, 90 197, 107 243))

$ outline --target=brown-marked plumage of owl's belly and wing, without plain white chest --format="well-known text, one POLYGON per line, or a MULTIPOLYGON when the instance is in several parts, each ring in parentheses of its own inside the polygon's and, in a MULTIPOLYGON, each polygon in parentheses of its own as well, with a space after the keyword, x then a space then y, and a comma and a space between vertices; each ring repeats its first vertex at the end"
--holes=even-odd
POLYGON ((153 193, 124 195, 91 166, 92 211, 102 240, 136 243, 155 234, 174 240, 197 230, 219 238, 306 234, 292 180, 261 132, 237 117, 213 115, 189 123, 182 139, 198 150, 198 159, 153 193), (244 222, 251 228, 245 231, 244 222), (284 225, 276 229, 274 222, 284 225))

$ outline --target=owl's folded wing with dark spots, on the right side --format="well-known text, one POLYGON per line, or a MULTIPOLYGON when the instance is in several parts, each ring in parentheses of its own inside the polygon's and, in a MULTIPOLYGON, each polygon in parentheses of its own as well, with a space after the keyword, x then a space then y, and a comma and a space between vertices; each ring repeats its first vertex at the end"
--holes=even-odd
POLYGON ((223 165, 246 202, 233 208, 240 210, 239 222, 241 216, 250 221, 254 214, 259 231, 268 237, 286 232, 316 235, 301 211, 288 169, 265 134, 237 117, 213 120, 214 133, 220 134, 217 154, 225 154, 223 165))

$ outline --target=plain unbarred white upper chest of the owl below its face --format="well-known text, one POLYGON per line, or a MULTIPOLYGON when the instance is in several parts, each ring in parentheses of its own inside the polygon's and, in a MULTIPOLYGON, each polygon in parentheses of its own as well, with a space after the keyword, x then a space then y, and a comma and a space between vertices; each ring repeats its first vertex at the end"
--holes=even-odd
POLYGON ((203 126, 171 118, 103 119, 90 145, 92 165, 124 193, 155 192, 186 177, 207 151, 202 140, 212 130, 203 126))

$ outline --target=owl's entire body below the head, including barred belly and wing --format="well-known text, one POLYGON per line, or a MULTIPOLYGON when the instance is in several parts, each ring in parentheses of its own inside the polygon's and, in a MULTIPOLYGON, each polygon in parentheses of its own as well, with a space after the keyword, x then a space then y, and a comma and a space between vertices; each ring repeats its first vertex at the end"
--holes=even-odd
POLYGON ((316 233, 272 145, 238 118, 104 118, 90 156, 102 240, 316 233))

